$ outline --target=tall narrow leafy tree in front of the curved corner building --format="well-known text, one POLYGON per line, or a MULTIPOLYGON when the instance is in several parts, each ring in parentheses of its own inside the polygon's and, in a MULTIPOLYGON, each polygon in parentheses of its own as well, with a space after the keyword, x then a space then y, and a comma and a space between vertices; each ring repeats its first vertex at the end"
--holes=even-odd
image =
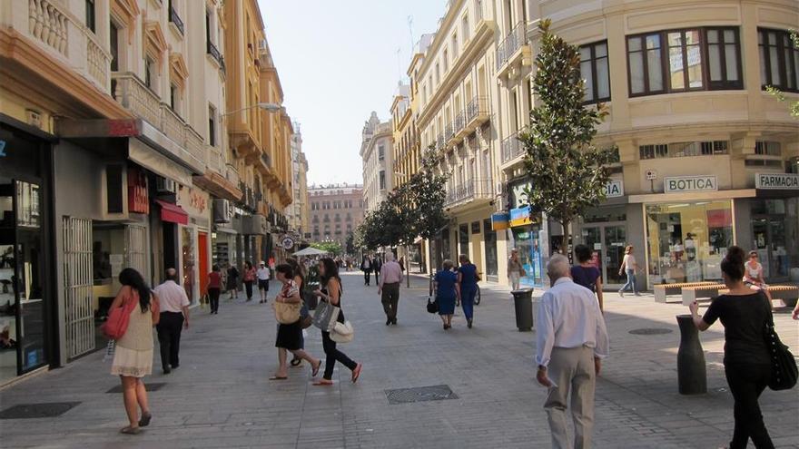
POLYGON ((533 82, 538 102, 519 141, 526 152, 525 169, 532 184, 525 190, 530 209, 543 211, 560 223, 564 245, 568 245, 569 224, 588 207, 605 200, 610 178, 606 166, 615 151, 593 145, 596 126, 607 110, 602 104, 596 108, 583 105, 585 87, 577 46, 550 32, 549 25, 548 19, 539 25, 541 50, 533 82))

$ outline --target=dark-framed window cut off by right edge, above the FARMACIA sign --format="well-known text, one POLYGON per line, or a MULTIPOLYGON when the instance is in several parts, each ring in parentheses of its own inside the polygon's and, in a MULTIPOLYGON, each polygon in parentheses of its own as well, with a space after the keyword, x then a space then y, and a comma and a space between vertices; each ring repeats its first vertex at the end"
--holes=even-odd
POLYGON ((782 91, 799 92, 799 49, 790 34, 761 28, 757 30, 757 40, 763 88, 774 86, 782 91))

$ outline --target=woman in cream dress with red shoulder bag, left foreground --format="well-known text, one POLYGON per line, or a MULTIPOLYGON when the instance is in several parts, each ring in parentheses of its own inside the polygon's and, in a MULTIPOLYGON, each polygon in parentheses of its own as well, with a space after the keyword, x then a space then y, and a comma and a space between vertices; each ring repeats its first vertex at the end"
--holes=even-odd
POLYGON ((135 269, 124 268, 119 282, 123 288, 113 299, 104 331, 116 340, 111 374, 122 380, 124 407, 130 421, 120 432, 138 434, 153 418, 142 378, 153 373, 153 326, 158 324, 159 307, 135 269))

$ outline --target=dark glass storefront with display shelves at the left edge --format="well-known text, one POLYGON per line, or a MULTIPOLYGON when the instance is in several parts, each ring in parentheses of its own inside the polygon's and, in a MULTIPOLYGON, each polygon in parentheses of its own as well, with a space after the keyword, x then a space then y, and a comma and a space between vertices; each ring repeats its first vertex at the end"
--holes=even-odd
POLYGON ((0 385, 57 366, 52 142, 0 115, 0 385))

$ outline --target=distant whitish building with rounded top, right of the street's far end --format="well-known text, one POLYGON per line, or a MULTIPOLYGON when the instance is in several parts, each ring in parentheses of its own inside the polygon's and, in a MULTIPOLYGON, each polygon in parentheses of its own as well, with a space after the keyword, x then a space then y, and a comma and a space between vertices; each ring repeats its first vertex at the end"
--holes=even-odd
POLYGON ((394 188, 393 127, 371 112, 363 125, 360 159, 363 162, 364 210, 376 210, 394 188))

